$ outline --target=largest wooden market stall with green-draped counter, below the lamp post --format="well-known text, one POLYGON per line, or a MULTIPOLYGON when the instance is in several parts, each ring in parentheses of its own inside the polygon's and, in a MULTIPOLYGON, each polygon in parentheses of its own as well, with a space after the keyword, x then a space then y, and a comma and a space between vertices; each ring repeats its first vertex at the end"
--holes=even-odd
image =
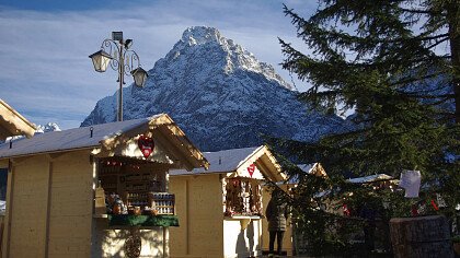
POLYGON ((169 169, 207 166, 164 114, 0 145, 2 257, 169 257, 169 169))

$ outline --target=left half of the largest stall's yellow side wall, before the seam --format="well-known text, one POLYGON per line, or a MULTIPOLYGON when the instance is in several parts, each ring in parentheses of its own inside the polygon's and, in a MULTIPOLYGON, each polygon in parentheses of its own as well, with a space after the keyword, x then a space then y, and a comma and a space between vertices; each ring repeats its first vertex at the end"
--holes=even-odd
POLYGON ((48 171, 45 156, 13 163, 4 257, 45 257, 48 171))

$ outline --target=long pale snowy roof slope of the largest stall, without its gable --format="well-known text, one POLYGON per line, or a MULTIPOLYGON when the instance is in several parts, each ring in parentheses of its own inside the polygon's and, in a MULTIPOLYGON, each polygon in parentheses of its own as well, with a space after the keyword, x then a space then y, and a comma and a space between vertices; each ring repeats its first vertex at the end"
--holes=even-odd
POLYGON ((64 131, 51 131, 36 134, 31 139, 22 138, 13 141, 11 149, 9 142, 1 144, 0 159, 99 146, 102 140, 122 134, 161 116, 164 116, 164 114, 154 115, 149 118, 101 124, 64 131), (93 130, 93 137, 91 137, 91 128, 93 130))

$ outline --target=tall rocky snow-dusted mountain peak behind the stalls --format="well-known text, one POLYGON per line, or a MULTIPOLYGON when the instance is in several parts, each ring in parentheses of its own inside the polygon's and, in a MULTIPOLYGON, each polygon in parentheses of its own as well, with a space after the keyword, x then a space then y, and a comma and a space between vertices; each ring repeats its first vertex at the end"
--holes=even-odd
MULTIPOLYGON (((257 145, 261 133, 315 140, 344 124, 308 112, 272 66, 216 28, 187 28, 148 73, 145 87, 124 89, 124 119, 166 113, 202 151, 257 145)), ((117 94, 100 99, 81 126, 115 121, 117 94)))

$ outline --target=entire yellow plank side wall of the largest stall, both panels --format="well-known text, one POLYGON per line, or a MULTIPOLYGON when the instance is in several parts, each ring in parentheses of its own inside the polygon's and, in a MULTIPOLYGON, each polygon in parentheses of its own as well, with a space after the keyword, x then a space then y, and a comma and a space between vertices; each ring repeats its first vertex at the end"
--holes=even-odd
POLYGON ((3 257, 90 257, 92 184, 89 152, 13 160, 3 257))

